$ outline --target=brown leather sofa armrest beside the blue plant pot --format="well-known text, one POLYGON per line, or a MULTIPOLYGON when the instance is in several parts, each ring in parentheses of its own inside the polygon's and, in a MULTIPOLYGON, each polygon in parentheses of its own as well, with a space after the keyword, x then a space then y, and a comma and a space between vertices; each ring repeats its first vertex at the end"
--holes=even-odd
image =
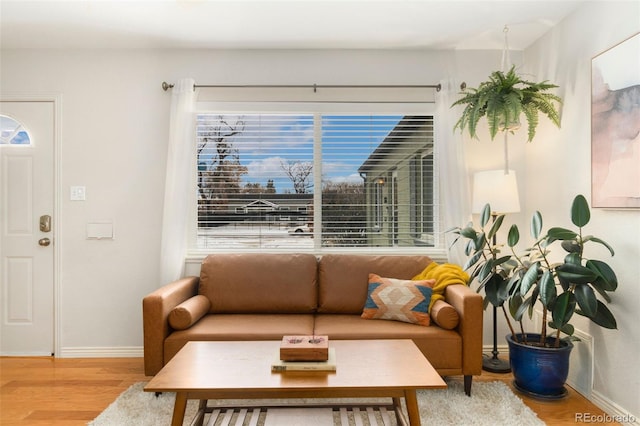
POLYGON ((482 373, 482 296, 466 285, 447 286, 445 300, 460 315, 456 330, 462 336, 462 374, 482 373))

